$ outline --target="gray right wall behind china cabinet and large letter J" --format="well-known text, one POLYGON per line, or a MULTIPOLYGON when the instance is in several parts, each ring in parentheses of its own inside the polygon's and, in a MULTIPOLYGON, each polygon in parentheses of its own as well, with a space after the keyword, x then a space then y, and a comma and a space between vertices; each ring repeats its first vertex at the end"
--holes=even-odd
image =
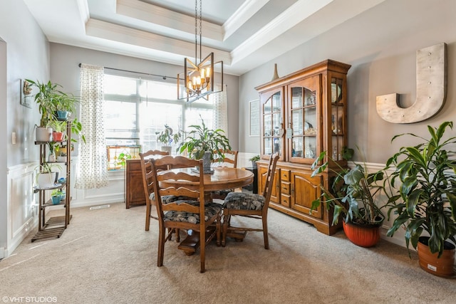
MULTIPOLYGON (((258 98, 254 87, 271 80, 274 63, 279 76, 327 58, 351 64, 348 72, 348 143, 366 153, 367 162, 385 163, 407 141, 395 141, 403 132, 427 134, 456 114, 456 1, 387 0, 346 21, 279 58, 249 71, 239 80, 239 149, 259 152, 259 137, 247 137, 248 101, 258 98), (447 43, 448 88, 443 109, 423 122, 399 125, 378 116, 375 97, 400 93, 410 105, 416 94, 415 53, 420 48, 447 43)), ((451 132, 455 136, 456 132, 451 132)))

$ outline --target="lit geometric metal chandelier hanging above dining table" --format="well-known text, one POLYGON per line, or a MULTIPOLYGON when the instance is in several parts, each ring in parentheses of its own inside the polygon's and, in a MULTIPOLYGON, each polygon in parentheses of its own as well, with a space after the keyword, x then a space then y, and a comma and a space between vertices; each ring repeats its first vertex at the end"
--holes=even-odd
POLYGON ((186 99, 192 103, 199 98, 209 100, 209 94, 223 90, 223 61, 214 63, 214 53, 210 53, 202 59, 202 0, 199 0, 199 19, 198 1, 195 0, 195 63, 189 58, 184 59, 184 72, 177 74, 177 99, 186 99), (197 63, 198 50, 198 20, 199 20, 199 63, 197 63), (220 89, 214 91, 214 66, 220 70, 221 83, 220 89))

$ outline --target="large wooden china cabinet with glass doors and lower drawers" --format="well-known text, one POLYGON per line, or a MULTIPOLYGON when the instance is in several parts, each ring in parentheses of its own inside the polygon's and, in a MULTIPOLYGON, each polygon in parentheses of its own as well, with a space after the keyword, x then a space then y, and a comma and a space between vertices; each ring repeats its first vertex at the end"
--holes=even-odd
MULTIPOLYGON (((320 206, 309 214, 311 202, 328 187, 332 175, 326 171, 311 177, 318 155, 327 151, 336 162, 347 145, 347 83, 351 65, 326 60, 259 85, 260 149, 258 187, 263 189, 267 161, 274 152, 280 158, 274 176, 271 208, 313 224, 324 234, 334 234, 332 213, 320 206)), ((328 187, 329 188, 329 187, 328 187)), ((339 221, 340 223, 341 221, 339 221)))

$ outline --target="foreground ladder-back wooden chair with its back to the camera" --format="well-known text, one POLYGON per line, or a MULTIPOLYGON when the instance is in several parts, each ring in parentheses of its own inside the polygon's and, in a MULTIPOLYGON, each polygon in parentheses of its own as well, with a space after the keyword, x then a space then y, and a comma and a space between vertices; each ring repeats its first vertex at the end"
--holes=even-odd
POLYGON ((199 232, 199 261, 200 271, 205 271, 206 246, 209 241, 217 237, 217 246, 220 245, 221 227, 220 220, 222 205, 211 202, 204 203, 204 171, 202 159, 188 159, 182 156, 165 156, 160 159, 151 159, 152 184, 157 203, 159 240, 157 266, 163 265, 165 242, 170 239, 172 229, 199 232), (185 172, 179 170, 166 170, 157 172, 162 167, 170 168, 195 168, 198 172, 185 172), (178 181, 174 184, 165 184, 166 181, 178 181), (193 187, 192 185, 193 184, 193 187), (196 189, 195 189, 195 184, 196 189), (185 196, 182 199, 163 204, 164 196, 185 196), (166 231, 167 229, 167 231, 166 231))

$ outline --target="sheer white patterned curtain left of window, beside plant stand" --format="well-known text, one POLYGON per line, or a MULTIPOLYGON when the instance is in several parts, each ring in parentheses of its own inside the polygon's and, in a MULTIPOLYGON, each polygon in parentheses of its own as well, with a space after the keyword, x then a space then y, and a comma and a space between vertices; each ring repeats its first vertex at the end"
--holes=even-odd
POLYGON ((78 149, 77 189, 108 186, 103 97, 104 68, 81 64, 80 120, 86 143, 78 149))

